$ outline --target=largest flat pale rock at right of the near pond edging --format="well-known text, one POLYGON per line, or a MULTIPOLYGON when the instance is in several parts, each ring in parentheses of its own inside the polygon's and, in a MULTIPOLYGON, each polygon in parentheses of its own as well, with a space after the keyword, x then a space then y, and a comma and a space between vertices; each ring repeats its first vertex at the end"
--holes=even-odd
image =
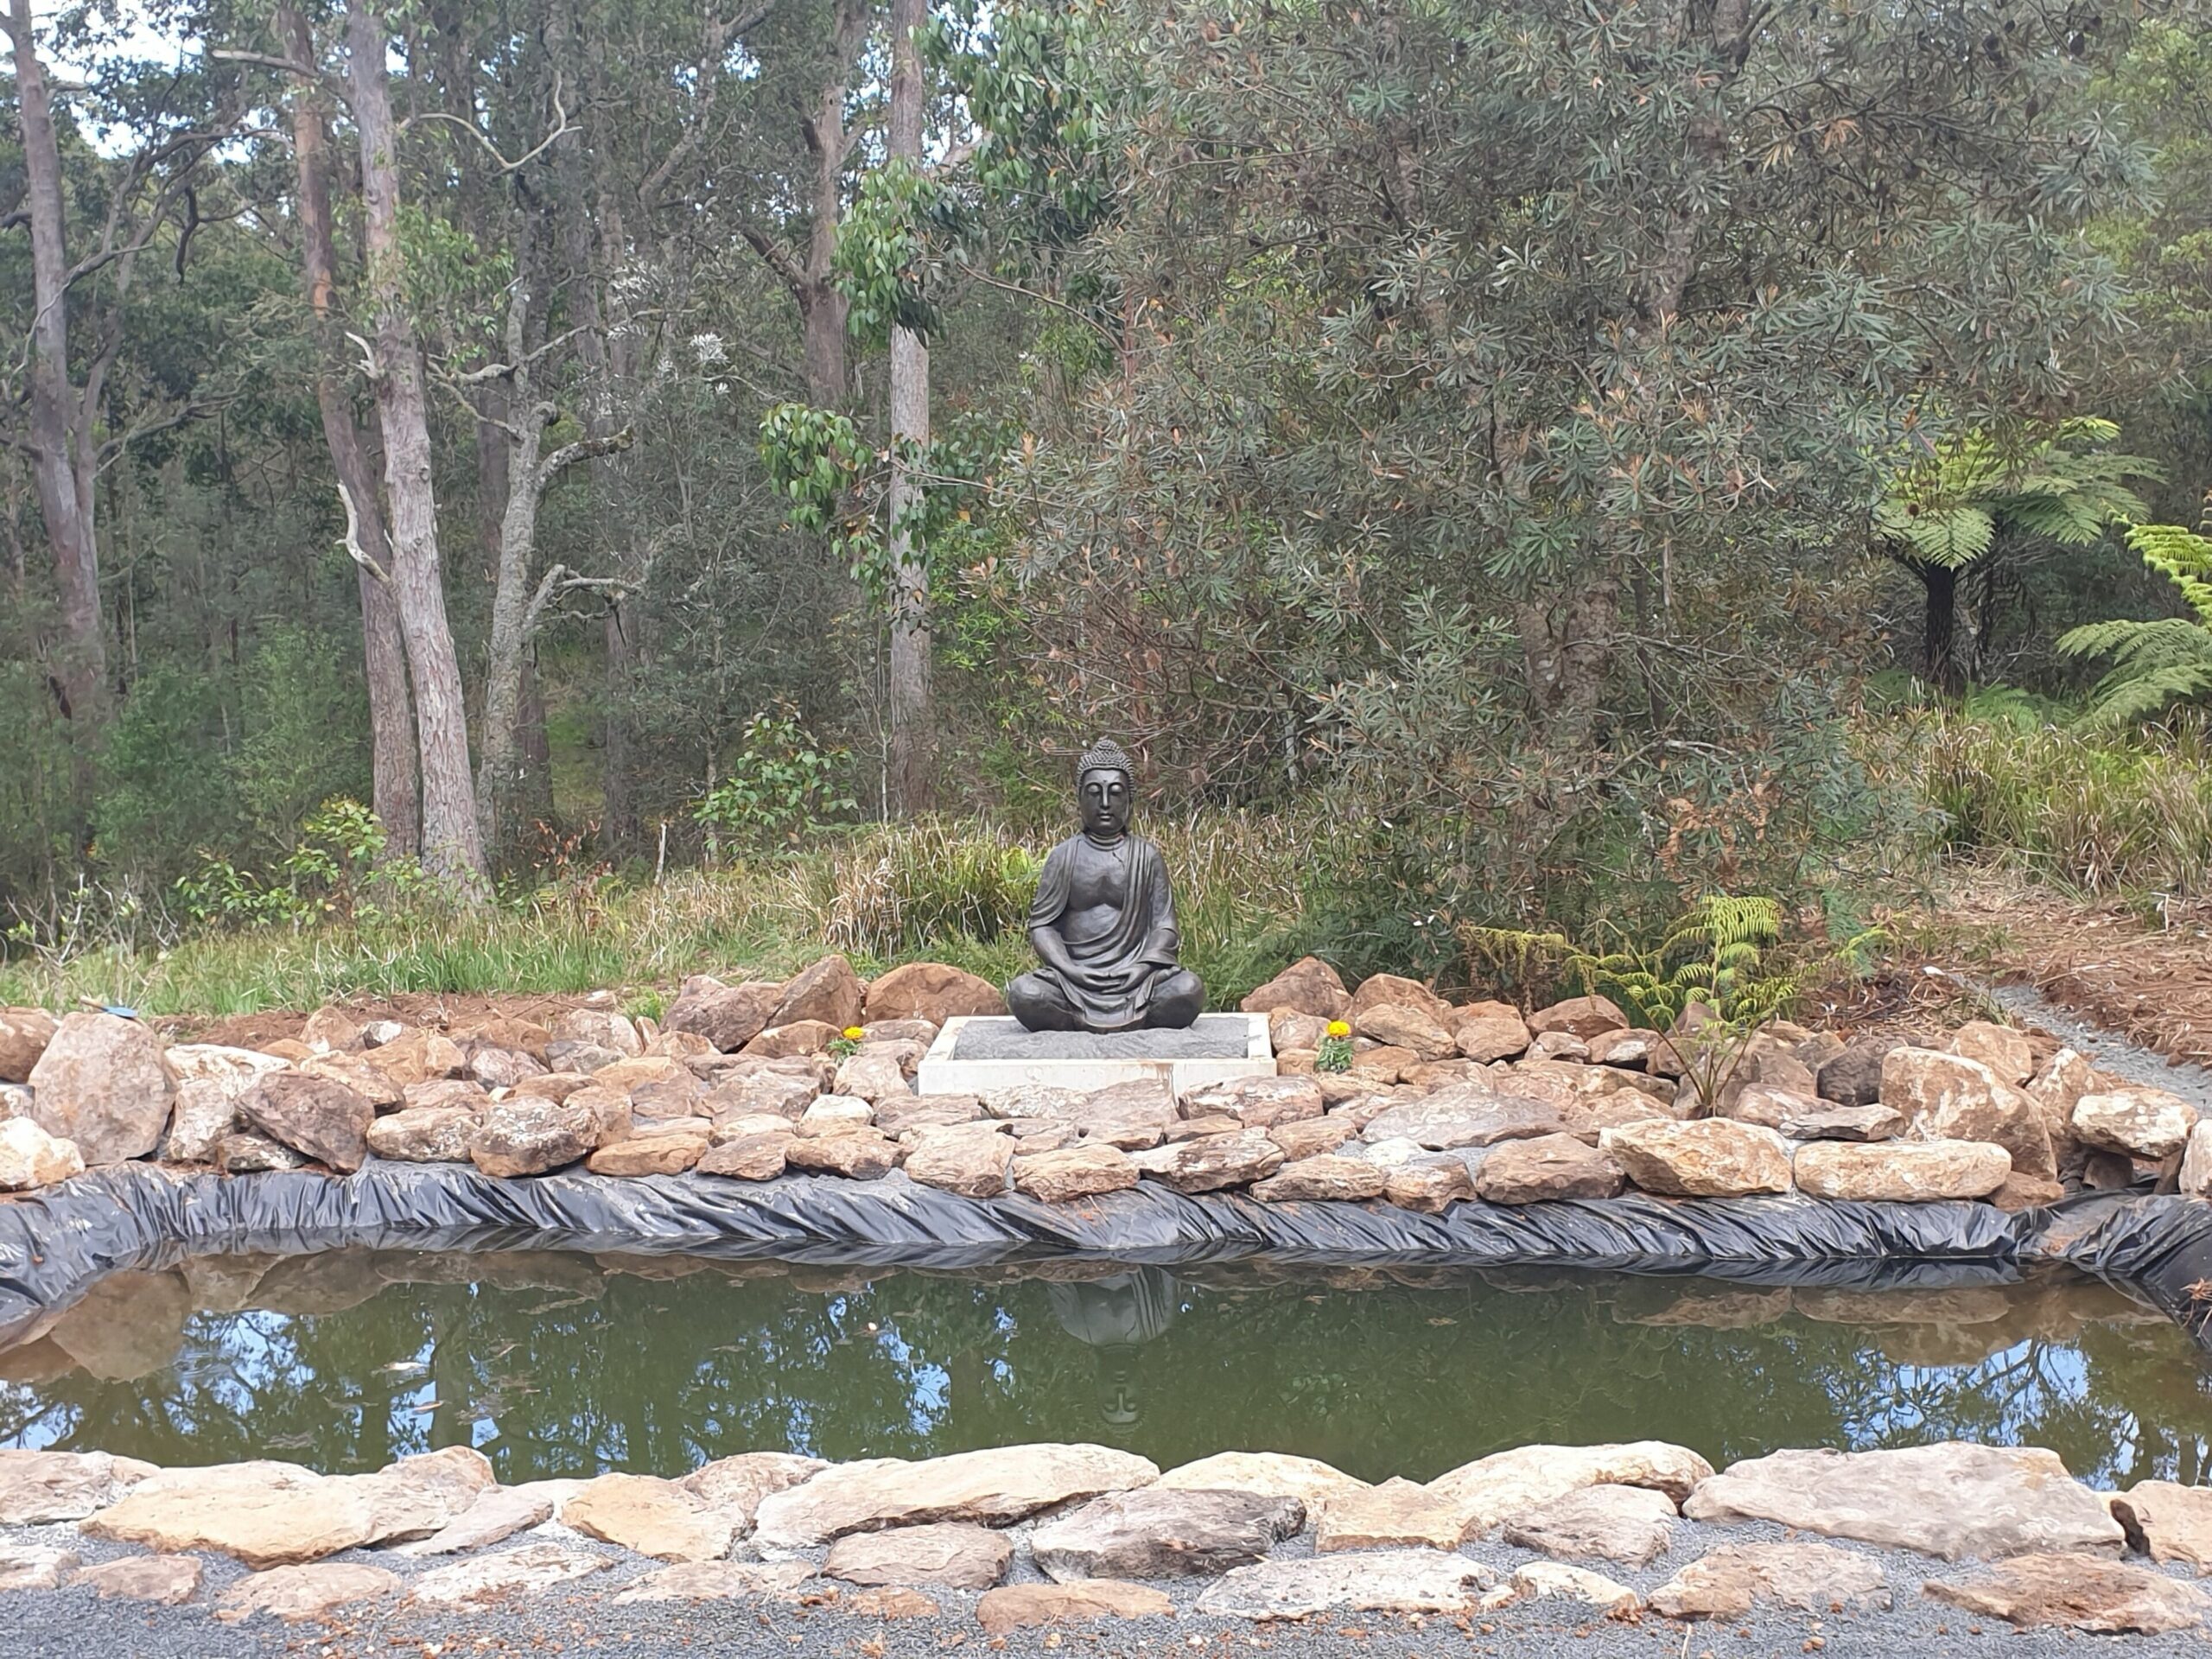
POLYGON ((2124 1540, 2104 1504, 2042 1447, 1947 1440, 1891 1451, 1776 1451, 1699 1482, 1690 1520, 1772 1520, 1958 1559, 2026 1551, 2110 1551, 2124 1540), (1929 1502, 1942 1493, 1942 1502, 1929 1502))

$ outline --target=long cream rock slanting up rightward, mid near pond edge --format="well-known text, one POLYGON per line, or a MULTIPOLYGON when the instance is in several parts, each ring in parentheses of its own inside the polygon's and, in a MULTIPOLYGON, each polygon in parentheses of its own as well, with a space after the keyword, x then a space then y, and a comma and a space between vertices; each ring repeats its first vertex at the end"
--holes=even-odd
POLYGON ((885 1526, 1015 1522, 1075 1498, 1146 1486, 1159 1469, 1108 1447, 1033 1444, 956 1451, 907 1462, 869 1458, 823 1469, 761 1500, 754 1537, 768 1548, 823 1544, 885 1526))

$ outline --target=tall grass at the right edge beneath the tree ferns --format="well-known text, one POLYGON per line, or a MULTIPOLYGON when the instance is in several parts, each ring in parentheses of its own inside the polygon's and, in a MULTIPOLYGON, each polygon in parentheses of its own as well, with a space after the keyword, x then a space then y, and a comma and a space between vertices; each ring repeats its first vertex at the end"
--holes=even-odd
POLYGON ((1920 790, 1951 854, 1993 856, 2088 894, 2212 887, 2212 728, 2135 734, 2031 719, 1924 717, 1920 790))

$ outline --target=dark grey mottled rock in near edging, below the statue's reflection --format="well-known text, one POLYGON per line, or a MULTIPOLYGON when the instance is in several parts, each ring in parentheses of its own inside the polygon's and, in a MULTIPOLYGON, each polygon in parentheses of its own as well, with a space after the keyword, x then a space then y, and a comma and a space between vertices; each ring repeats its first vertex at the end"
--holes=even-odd
POLYGON ((1031 1555, 1046 1577, 1186 1579, 1256 1562, 1305 1526, 1305 1504, 1252 1491, 1146 1486, 1097 1498, 1040 1526, 1031 1555))

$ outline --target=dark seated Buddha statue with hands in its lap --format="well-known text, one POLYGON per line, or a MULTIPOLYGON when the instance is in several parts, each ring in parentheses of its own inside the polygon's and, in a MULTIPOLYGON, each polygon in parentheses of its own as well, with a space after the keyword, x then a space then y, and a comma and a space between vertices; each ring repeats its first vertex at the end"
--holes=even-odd
POLYGON ((1206 987, 1175 953, 1168 865, 1128 832, 1135 776, 1119 743, 1097 741, 1075 768, 1082 834, 1044 858, 1029 907, 1037 967, 1006 987, 1029 1031, 1183 1029, 1206 987))

